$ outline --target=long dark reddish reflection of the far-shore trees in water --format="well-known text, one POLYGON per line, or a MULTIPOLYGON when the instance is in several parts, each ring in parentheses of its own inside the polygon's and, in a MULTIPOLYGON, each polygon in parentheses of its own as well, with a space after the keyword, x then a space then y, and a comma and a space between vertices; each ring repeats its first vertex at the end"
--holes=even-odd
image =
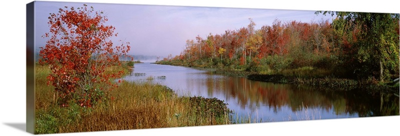
MULTIPOLYGON (((208 77, 208 76, 207 76, 208 77)), ((251 81, 244 77, 206 79, 208 93, 223 91, 233 97, 241 108, 255 110, 259 104, 267 105, 274 112, 282 106, 301 110, 300 105, 318 107, 328 111, 333 108, 336 115, 358 114, 359 116, 398 115, 399 98, 393 94, 368 94, 362 91, 321 90, 307 86, 275 84, 251 81)))

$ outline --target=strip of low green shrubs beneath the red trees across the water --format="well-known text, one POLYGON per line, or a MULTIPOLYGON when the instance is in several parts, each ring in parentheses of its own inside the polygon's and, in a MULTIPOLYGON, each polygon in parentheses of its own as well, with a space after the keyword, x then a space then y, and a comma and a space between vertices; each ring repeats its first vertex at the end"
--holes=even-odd
MULTIPOLYGON (((313 58, 313 57, 311 57, 313 58)), ((307 59, 311 59, 307 58, 307 59)), ((332 67, 319 64, 320 59, 310 60, 311 62, 305 64, 294 64, 290 56, 269 56, 267 58, 259 59, 257 62, 250 62, 248 64, 239 64, 238 60, 221 60, 221 59, 199 59, 196 61, 185 61, 181 59, 166 59, 156 61, 156 64, 176 65, 194 67, 203 70, 209 70, 213 73, 224 74, 229 76, 247 76, 251 74, 282 74, 285 76, 294 76, 301 78, 320 78, 330 75, 336 77, 344 77, 344 71, 334 69, 332 67)), ((325 60, 326 61, 326 60, 325 60)))

